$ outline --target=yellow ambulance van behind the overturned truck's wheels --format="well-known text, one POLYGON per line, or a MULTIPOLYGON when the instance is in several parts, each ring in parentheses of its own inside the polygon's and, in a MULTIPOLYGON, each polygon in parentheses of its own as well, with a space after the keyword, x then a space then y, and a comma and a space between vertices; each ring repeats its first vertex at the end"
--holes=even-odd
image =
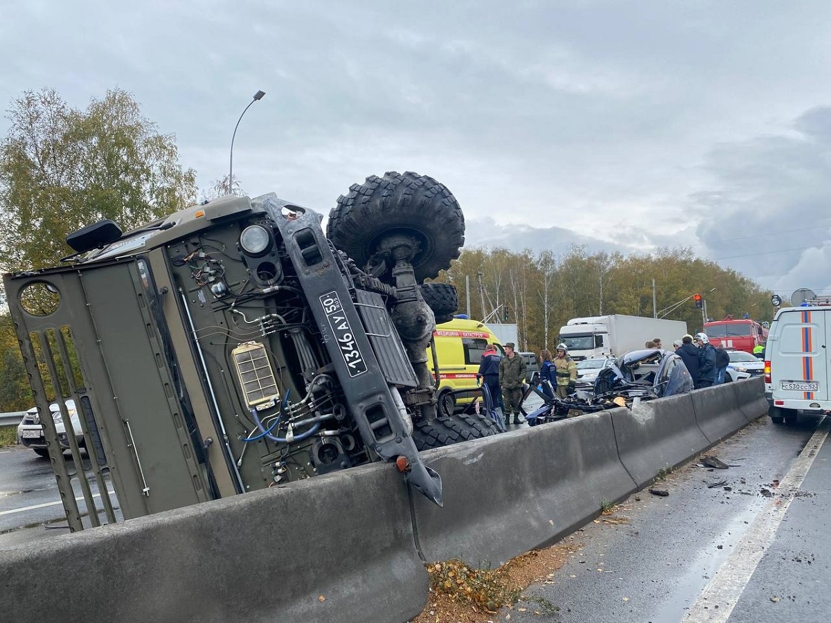
MULTIPOLYGON (((436 325, 433 332, 435 359, 439 365, 439 405, 452 411, 455 402, 470 402, 474 395, 453 395, 458 390, 476 390, 476 373, 485 346, 494 344, 500 356, 504 356, 502 344, 489 326, 467 318, 454 318, 436 325)), ((435 379, 433 353, 427 351, 427 365, 435 379)), ((478 392, 477 392, 478 393, 478 392)))

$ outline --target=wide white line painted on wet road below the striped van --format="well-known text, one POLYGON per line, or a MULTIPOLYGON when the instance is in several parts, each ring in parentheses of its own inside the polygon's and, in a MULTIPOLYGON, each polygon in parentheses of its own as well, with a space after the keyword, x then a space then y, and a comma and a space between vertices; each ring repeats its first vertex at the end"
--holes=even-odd
POLYGON ((829 436, 831 418, 824 417, 808 444, 794 461, 794 465, 779 482, 781 496, 771 500, 750 526, 730 556, 715 573, 710 583, 701 591, 696 602, 690 607, 681 623, 725 623, 739 602, 745 586, 753 576, 756 566, 776 536, 779 523, 784 518, 794 493, 799 491, 802 481, 814 464, 819 449, 829 436), (717 608, 715 606, 718 606, 717 608))

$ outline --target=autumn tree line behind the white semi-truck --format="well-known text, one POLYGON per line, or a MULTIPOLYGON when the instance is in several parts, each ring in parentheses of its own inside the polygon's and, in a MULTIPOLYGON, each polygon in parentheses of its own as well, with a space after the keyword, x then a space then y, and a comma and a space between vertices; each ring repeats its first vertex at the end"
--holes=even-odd
MULTIPOLYGON (((695 292, 706 298, 711 318, 727 314, 740 318, 745 312, 757 321, 773 318, 770 292, 733 270, 696 258, 689 248, 660 248, 626 257, 589 254, 576 245, 559 255, 543 251, 536 256, 527 250, 465 248, 439 277, 458 289, 460 312, 467 312, 465 280, 470 282, 473 318, 484 319, 497 307, 508 305, 510 321, 519 325, 520 349, 537 352, 556 346, 559 329, 569 318, 652 316, 653 279, 658 311, 681 303, 660 316, 686 321, 690 333, 701 330, 701 310, 691 300, 685 302, 695 292)), ((489 321, 494 322, 494 316, 489 321)), ((681 336, 661 337, 669 344, 681 336)))

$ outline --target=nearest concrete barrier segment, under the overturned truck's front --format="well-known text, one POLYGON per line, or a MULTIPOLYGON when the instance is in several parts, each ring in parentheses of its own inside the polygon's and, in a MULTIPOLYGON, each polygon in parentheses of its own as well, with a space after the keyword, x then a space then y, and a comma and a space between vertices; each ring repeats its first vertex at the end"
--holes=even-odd
POLYGON ((0 586, 15 623, 390 623, 429 577, 376 464, 5 550, 0 586))

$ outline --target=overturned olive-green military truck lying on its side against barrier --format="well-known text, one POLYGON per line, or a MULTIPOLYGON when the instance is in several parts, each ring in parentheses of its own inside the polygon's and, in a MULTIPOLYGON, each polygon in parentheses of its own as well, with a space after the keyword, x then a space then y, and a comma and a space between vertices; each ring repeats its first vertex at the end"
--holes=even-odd
MULTIPOLYGON (((419 450, 496 432, 437 411, 427 367, 424 281, 460 253, 459 204, 391 172, 337 199, 325 236, 321 221, 274 194, 229 195, 129 233, 92 224, 66 239, 64 266, 5 275, 40 413, 57 401, 68 421, 65 400, 80 405, 86 473, 42 420, 73 530, 72 481, 93 508, 106 473, 124 518, 373 461, 442 503, 419 450)), ((111 507, 104 495, 113 521, 111 507)))

